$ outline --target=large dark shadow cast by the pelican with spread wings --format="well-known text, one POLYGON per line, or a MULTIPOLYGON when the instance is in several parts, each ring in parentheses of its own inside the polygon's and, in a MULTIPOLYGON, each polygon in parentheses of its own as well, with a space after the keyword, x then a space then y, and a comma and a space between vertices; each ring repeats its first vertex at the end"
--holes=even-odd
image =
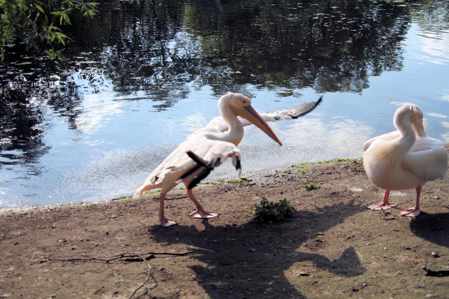
MULTIPOLYGON (((317 213, 295 212, 295 220, 280 224, 249 221, 242 225, 213 226, 202 221, 204 230, 194 225, 173 226, 168 230, 157 225, 148 231, 154 242, 192 247, 194 258, 206 266, 195 265, 191 269, 211 298, 304 298, 285 274, 295 271, 295 267, 290 268, 297 262, 308 265, 312 262, 321 270, 344 277, 365 273, 352 247, 342 248, 341 257, 336 260, 313 252, 326 243, 326 236, 320 232, 364 210, 351 200, 326 206, 317 213), (317 240, 311 241, 314 238, 317 240), (301 248, 305 243, 307 249, 303 248, 308 252, 301 248)), ((295 273, 296 277, 308 275, 311 274, 295 273)))

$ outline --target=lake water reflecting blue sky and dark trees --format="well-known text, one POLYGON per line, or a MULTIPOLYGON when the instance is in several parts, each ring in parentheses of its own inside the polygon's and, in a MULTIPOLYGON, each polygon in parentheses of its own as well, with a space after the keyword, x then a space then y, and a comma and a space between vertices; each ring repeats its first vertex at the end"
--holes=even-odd
MULTIPOLYGON (((394 102, 449 142, 449 1, 101 1, 73 15, 64 62, 16 44, 0 72, 0 207, 129 195, 240 92, 260 111, 316 100, 254 127, 243 171, 362 156, 394 130, 394 102)), ((209 178, 229 177, 221 165, 209 178)))

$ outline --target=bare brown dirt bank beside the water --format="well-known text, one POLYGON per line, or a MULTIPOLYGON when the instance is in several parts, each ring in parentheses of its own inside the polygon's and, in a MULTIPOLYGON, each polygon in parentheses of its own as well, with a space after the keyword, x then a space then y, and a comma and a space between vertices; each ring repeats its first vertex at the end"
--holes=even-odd
POLYGON ((158 194, 97 204, 3 209, 0 298, 449 298, 449 184, 423 187, 422 214, 400 217, 414 191, 392 192, 399 206, 371 211, 383 190, 361 161, 247 173, 251 182, 199 185, 217 219, 190 219, 185 191, 171 191, 158 225, 158 194), (302 172, 302 173, 301 173, 302 172), (304 173, 305 172, 305 173, 304 173), (296 174, 299 173, 299 174, 296 174), (321 189, 305 191, 304 183, 321 189), (262 196, 287 198, 295 217, 254 221, 262 196), (185 255, 169 255, 190 252, 185 255), (74 257, 138 255, 90 261, 74 257), (167 254, 158 254, 167 253, 167 254), (148 271, 151 276, 148 281, 148 271))

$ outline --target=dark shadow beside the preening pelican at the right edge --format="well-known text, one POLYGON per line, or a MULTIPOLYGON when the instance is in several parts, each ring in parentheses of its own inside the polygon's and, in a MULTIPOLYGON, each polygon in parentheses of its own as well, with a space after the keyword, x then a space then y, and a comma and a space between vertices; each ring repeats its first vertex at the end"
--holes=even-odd
POLYGON ((410 221, 410 230, 417 237, 445 247, 449 247, 448 227, 449 212, 436 214, 421 212, 419 217, 410 221))

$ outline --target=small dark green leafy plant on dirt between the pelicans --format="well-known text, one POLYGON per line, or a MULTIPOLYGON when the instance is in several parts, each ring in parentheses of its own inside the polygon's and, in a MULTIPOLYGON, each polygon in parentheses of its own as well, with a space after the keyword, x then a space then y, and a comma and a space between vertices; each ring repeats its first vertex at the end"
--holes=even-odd
POLYGON ((260 205, 254 204, 251 209, 254 211, 255 221, 257 222, 279 222, 285 218, 293 217, 295 207, 291 206, 286 198, 277 203, 268 201, 265 196, 260 200, 260 205))

